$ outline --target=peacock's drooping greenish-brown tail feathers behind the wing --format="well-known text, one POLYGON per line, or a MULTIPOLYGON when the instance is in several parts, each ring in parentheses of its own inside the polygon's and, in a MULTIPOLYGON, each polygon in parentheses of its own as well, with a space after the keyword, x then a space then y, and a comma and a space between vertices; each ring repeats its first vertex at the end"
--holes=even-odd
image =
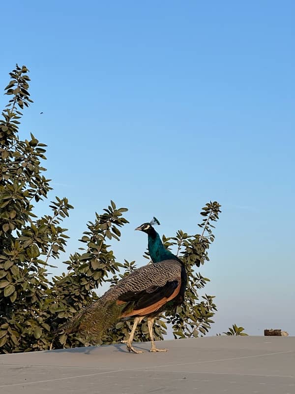
POLYGON ((106 330, 117 322, 121 311, 122 306, 117 305, 116 301, 99 299, 78 312, 62 328, 67 334, 78 332, 92 343, 97 343, 106 330))

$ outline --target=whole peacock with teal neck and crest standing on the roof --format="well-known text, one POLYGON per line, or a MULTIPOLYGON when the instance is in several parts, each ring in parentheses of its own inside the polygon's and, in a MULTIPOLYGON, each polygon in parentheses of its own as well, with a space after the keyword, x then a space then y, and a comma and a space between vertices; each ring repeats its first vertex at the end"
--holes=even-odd
POLYGON ((166 249, 154 225, 159 221, 153 218, 135 230, 148 234, 148 252, 152 263, 135 269, 108 290, 100 299, 80 312, 62 328, 67 334, 79 332, 80 335, 99 342, 104 332, 118 319, 134 317, 134 324, 126 343, 127 350, 143 353, 132 346, 136 327, 147 317, 151 341, 150 352, 167 352, 158 349, 153 338, 155 317, 164 310, 173 310, 184 299, 187 275, 184 264, 177 256, 166 249))

